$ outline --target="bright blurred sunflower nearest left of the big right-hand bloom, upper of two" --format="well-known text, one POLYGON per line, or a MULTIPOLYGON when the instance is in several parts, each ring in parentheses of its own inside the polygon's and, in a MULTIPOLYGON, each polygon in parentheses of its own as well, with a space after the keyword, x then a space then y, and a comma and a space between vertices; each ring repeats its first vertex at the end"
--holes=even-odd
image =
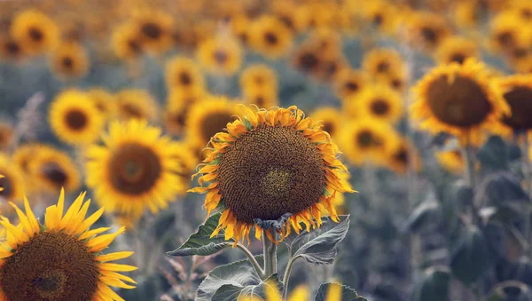
POLYGON ((355 102, 347 107, 350 115, 365 116, 397 123, 403 116, 403 99, 387 86, 373 84, 360 93, 355 102))

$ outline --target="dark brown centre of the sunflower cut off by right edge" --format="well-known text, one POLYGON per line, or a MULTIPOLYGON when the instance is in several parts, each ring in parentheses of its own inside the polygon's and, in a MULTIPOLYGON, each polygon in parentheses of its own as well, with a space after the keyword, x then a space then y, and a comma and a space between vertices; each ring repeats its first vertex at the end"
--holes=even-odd
POLYGON ((503 118, 503 123, 513 130, 532 129, 532 89, 514 87, 505 93, 505 99, 512 110, 512 115, 503 118))

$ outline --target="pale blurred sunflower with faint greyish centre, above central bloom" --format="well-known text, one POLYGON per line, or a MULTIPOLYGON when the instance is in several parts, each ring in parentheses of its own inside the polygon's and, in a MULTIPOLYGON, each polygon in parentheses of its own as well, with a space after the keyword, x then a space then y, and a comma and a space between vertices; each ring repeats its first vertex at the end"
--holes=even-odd
POLYGON ((233 75, 242 63, 242 49, 231 37, 209 38, 199 45, 198 59, 210 73, 233 75))

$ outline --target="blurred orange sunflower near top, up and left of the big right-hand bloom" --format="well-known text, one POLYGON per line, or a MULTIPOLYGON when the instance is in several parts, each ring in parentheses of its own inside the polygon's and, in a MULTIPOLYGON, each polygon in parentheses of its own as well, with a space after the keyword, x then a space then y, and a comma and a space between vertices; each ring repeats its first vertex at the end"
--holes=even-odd
POLYGON ((408 20, 405 34, 411 41, 419 47, 434 51, 438 46, 450 36, 450 25, 442 15, 435 12, 417 12, 408 20))

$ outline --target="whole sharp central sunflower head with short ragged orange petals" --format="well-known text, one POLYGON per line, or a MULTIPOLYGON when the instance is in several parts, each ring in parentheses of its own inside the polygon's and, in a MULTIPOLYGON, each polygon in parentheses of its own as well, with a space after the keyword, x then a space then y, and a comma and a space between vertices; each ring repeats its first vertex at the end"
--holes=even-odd
POLYGON ((297 107, 244 110, 227 132, 211 139, 214 151, 198 171, 200 187, 191 190, 207 193, 208 214, 223 208, 213 235, 225 229, 226 240, 244 242, 254 227, 260 239, 265 225, 273 223, 283 239, 291 227, 299 234, 300 222, 307 231, 320 226, 326 213, 338 222, 332 203, 337 193, 352 190, 342 185, 339 174, 347 169, 329 134, 297 107))

